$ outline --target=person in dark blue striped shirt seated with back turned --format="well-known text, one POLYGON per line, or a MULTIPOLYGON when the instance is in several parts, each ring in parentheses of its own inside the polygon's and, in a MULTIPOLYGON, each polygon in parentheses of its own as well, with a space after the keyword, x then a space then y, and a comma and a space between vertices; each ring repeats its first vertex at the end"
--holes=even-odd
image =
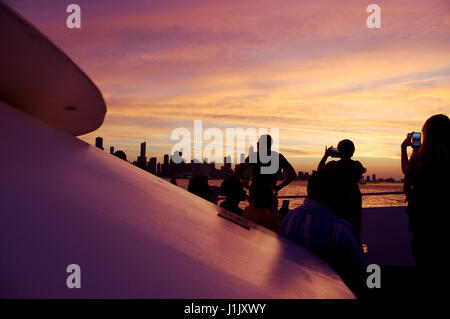
POLYGON ((314 172, 308 197, 291 210, 281 224, 281 234, 309 248, 327 261, 343 281, 361 297, 365 291, 367 259, 359 232, 335 215, 336 189, 329 172, 314 172))

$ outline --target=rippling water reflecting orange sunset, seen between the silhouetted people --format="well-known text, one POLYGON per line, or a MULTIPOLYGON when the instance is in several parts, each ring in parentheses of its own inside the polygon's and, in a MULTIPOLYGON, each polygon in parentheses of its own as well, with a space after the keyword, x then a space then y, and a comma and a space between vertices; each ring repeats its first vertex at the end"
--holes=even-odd
MULTIPOLYGON (((187 189, 189 180, 179 179, 177 180, 178 186, 187 189)), ((210 180, 209 185, 220 186, 222 180, 210 180)), ((306 181, 294 181, 285 188, 283 188, 278 195, 279 196, 299 196, 306 195, 306 181)), ((382 193, 382 192, 401 192, 403 190, 402 183, 368 183, 359 186, 361 193, 382 193)), ((303 203, 304 198, 289 198, 289 208, 293 209, 303 203)), ((278 200, 278 205, 281 207, 283 200, 278 200)), ((405 195, 372 195, 363 196, 363 207, 392 207, 392 206, 404 206, 405 195)), ((242 208, 247 206, 247 202, 241 202, 242 208)))

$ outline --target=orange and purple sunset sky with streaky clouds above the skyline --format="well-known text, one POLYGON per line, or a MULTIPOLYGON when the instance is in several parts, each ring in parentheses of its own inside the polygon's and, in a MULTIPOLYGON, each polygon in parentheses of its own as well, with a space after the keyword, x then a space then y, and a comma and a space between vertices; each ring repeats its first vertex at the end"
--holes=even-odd
MULTIPOLYGON (((278 128, 297 171, 344 139, 369 174, 401 178, 400 144, 450 112, 448 0, 6 0, 96 83, 108 112, 80 136, 135 160, 175 128, 278 128), (81 29, 66 7, 81 7, 81 29), (369 29, 366 7, 381 8, 369 29)), ((204 144, 208 141, 204 140, 204 144)))

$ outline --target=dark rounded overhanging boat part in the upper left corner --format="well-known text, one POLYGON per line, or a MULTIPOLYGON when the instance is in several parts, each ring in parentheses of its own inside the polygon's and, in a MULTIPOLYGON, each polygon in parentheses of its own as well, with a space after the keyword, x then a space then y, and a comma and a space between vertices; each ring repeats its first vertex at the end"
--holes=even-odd
POLYGON ((60 49, 0 2, 0 100, 72 135, 106 114, 95 84, 60 49))

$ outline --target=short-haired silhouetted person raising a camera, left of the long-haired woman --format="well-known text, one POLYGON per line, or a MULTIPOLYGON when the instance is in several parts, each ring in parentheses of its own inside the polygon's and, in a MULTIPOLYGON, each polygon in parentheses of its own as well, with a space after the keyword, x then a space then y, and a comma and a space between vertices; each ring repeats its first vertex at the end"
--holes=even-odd
POLYGON ((332 147, 325 148, 325 154, 317 169, 331 174, 336 190, 336 215, 361 231, 362 196, 358 182, 366 169, 359 161, 352 160, 355 152, 355 145, 352 141, 340 141, 337 149, 340 160, 325 164, 328 157, 331 156, 332 147))

